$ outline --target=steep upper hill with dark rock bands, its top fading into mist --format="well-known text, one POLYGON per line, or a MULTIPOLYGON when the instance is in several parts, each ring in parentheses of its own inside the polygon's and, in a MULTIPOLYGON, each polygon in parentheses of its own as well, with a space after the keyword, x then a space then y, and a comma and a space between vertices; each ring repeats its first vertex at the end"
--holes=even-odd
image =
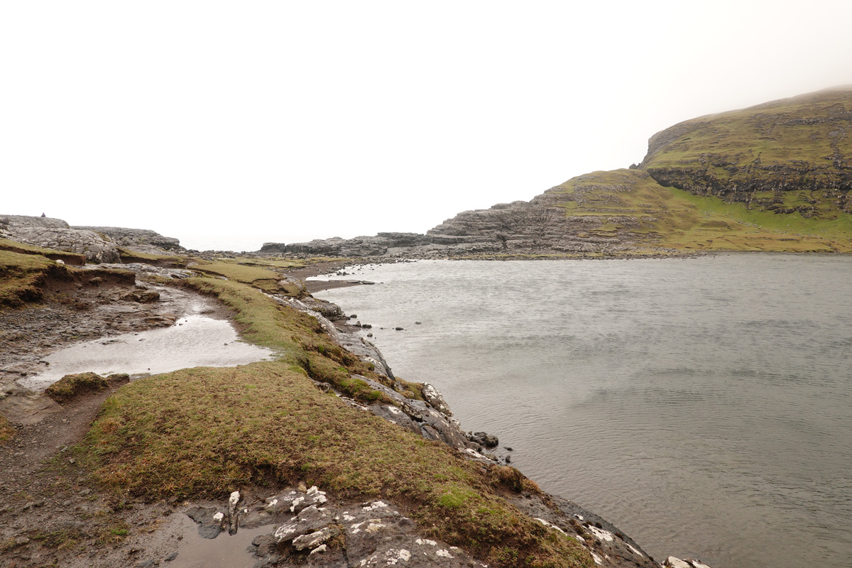
POLYGON ((653 135, 640 168, 748 209, 852 213, 852 87, 694 118, 653 135))

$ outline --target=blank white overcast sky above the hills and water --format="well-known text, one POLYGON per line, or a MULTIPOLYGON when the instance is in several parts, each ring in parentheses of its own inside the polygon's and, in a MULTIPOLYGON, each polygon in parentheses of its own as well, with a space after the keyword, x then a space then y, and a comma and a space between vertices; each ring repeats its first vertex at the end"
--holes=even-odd
POLYGON ((850 84, 850 22, 849 0, 0 0, 0 214, 196 247, 425 232, 850 84))

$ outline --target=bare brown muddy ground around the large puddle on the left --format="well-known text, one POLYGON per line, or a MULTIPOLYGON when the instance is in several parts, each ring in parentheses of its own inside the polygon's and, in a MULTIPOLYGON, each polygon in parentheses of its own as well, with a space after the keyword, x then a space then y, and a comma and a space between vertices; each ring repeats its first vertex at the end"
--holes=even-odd
POLYGON ((166 558, 164 551, 176 549, 181 536, 157 531, 148 537, 180 503, 131 504, 101 495, 74 458, 72 446, 120 384, 57 404, 15 380, 37 374, 45 356, 78 341, 169 326, 190 312, 213 318, 230 313, 173 286, 132 277, 91 279, 51 283, 40 304, 0 312, 0 414, 14 428, 13 438, 0 445, 3 568, 133 566, 147 561, 137 561, 143 553, 166 558))

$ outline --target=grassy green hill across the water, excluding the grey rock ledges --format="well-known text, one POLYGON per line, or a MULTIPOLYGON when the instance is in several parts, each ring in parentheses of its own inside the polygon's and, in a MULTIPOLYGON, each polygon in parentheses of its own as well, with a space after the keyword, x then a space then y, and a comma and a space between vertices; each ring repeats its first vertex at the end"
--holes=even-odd
POLYGON ((852 87, 775 100, 676 124, 638 169, 580 175, 533 203, 639 248, 850 252, 850 135, 852 87))

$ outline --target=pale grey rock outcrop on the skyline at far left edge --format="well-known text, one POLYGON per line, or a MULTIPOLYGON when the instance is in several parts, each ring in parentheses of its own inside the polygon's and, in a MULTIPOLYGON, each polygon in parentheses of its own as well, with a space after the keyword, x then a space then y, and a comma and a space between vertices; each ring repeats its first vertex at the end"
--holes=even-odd
POLYGON ((0 215, 0 237, 45 249, 66 250, 92 262, 120 262, 118 245, 95 231, 75 229, 61 219, 0 215))

